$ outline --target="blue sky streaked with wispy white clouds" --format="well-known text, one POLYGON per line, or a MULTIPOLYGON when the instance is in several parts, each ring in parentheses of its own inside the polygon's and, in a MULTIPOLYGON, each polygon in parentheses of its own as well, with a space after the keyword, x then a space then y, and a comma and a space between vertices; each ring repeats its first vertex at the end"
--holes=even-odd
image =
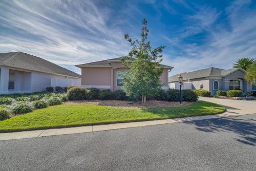
POLYGON ((66 67, 126 55, 146 18, 169 75, 229 69, 256 57, 255 1, 0 1, 0 52, 22 51, 66 67))

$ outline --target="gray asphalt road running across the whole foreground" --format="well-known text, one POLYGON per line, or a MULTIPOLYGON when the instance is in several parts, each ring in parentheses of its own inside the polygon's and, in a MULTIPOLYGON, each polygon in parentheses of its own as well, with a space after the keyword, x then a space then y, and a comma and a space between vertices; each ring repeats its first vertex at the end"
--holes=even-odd
POLYGON ((0 141, 1 170, 256 170, 256 114, 0 141))

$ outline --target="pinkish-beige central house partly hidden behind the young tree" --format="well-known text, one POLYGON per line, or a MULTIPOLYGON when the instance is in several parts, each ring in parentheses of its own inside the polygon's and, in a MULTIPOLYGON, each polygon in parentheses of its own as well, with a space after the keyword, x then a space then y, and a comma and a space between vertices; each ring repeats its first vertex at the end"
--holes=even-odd
MULTIPOLYGON (((123 79, 119 73, 125 72, 127 67, 122 65, 121 58, 102 60, 91 63, 84 63, 76 67, 82 70, 81 85, 84 88, 110 89, 111 91, 121 90, 123 79)), ((163 83, 163 90, 168 90, 168 72, 173 67, 161 65, 163 74, 160 80, 163 83)), ((159 68, 160 68, 159 67, 159 68)))

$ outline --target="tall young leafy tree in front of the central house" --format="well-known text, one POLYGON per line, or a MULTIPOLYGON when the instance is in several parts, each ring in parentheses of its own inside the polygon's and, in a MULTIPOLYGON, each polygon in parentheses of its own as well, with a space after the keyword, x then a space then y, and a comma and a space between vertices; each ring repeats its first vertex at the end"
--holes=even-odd
POLYGON ((140 40, 133 41, 128 34, 124 35, 124 38, 130 42, 132 50, 121 58, 123 65, 129 67, 129 70, 121 76, 124 92, 128 96, 142 98, 142 103, 145 104, 146 98, 154 96, 162 87, 159 77, 163 73, 160 62, 164 47, 155 49, 151 47, 150 41, 147 41, 149 30, 146 19, 143 19, 142 24, 140 40))

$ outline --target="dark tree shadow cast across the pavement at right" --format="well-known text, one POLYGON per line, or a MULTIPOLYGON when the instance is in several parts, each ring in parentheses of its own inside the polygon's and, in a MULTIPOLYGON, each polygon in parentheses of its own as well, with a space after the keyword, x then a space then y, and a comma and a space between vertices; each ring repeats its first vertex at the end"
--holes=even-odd
POLYGON ((238 118, 217 118, 199 121, 187 121, 184 123, 196 125, 196 129, 204 132, 232 132, 239 135, 235 140, 248 144, 256 145, 256 123, 251 119, 238 118))

